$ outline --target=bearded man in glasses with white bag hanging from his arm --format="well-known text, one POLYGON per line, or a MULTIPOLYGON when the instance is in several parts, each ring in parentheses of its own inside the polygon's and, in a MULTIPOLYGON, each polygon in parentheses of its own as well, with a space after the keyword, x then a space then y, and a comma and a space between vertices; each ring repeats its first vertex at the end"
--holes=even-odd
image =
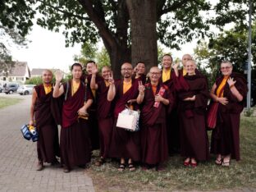
POLYGON ((126 106, 138 108, 136 106, 136 98, 139 94, 139 79, 132 79, 133 68, 129 62, 121 65, 122 80, 115 82, 115 87, 109 89, 108 100, 115 99, 114 107, 114 126, 112 130, 112 144, 110 148, 111 158, 120 158, 118 171, 124 171, 126 160, 128 160, 128 168, 135 171, 134 162, 140 160, 139 149, 139 131, 131 132, 117 127, 117 117, 126 106))

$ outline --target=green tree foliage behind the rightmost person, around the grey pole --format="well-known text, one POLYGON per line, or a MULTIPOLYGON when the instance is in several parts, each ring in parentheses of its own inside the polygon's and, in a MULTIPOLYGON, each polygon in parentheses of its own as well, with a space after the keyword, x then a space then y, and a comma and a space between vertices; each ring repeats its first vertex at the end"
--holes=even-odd
MULTIPOLYGON (((253 25, 252 33, 252 54, 253 62, 256 63, 256 25, 253 25)), ((201 42, 194 49, 195 59, 208 71, 210 85, 220 75, 220 63, 224 60, 232 62, 234 71, 244 73, 245 64, 248 59, 248 31, 232 30, 219 34, 215 39, 210 39, 209 43, 201 42)), ((252 72, 252 79, 255 80, 255 66, 252 72)))

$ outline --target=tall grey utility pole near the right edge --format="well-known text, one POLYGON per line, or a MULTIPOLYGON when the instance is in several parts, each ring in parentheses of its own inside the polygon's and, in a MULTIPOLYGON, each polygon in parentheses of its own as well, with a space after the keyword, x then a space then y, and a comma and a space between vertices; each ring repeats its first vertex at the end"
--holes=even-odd
POLYGON ((252 0, 249 0, 249 33, 248 33, 248 94, 247 94, 247 111, 251 107, 251 66, 252 66, 252 0))

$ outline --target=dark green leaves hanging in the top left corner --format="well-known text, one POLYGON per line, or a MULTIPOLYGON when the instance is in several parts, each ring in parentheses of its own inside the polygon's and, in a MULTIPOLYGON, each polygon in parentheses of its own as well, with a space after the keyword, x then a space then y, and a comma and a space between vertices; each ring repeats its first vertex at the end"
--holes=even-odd
POLYGON ((32 7, 36 1, 1 1, 0 2, 0 70, 9 70, 13 66, 11 54, 3 38, 11 39, 11 43, 25 46, 25 35, 33 25, 35 11, 32 7), (4 64, 4 65, 3 65, 4 64))

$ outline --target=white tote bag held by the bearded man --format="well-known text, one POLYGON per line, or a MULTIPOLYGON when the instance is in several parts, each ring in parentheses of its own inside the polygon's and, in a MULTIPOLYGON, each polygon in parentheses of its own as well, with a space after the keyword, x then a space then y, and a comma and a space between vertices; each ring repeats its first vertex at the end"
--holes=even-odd
POLYGON ((118 114, 117 126, 130 131, 139 130, 139 111, 126 108, 118 114))

